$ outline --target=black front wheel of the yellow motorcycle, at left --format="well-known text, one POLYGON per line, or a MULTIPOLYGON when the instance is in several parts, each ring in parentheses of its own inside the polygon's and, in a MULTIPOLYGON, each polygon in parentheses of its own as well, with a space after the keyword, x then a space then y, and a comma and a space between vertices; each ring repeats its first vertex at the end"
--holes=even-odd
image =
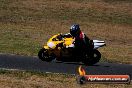
POLYGON ((47 61, 47 62, 50 62, 53 59, 55 59, 55 57, 49 55, 48 52, 47 52, 47 50, 44 49, 44 48, 40 49, 40 51, 38 52, 38 57, 42 61, 47 61))

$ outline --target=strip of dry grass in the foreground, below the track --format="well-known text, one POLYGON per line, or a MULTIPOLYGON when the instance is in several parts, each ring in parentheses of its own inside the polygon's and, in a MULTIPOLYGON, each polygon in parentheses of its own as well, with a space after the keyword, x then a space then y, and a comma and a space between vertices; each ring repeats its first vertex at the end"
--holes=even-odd
POLYGON ((30 71, 0 70, 1 88, 131 88, 127 84, 88 84, 79 85, 76 76, 30 71), (70 80, 70 81, 69 81, 70 80))

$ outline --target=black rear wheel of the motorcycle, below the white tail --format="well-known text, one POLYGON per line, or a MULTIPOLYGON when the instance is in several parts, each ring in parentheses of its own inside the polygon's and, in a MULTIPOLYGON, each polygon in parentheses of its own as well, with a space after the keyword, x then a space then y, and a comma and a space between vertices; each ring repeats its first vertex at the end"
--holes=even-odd
POLYGON ((86 56, 88 57, 84 58, 83 63, 86 65, 93 65, 99 62, 101 58, 101 53, 98 50, 93 50, 92 55, 86 54, 86 56))

